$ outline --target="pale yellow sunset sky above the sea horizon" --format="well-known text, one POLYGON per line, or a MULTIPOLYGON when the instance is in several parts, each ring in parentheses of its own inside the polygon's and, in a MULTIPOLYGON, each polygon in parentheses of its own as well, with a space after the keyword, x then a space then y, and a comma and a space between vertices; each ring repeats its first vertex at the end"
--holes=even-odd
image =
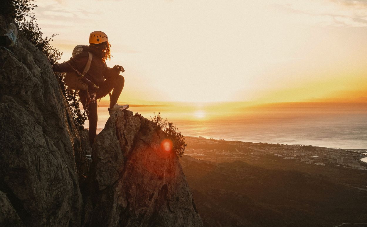
MULTIPOLYGON (((120 101, 257 103, 367 97, 362 0, 37 0, 45 35, 68 60, 91 31, 121 64, 120 101)), ((108 98, 107 98, 108 99, 108 98)))

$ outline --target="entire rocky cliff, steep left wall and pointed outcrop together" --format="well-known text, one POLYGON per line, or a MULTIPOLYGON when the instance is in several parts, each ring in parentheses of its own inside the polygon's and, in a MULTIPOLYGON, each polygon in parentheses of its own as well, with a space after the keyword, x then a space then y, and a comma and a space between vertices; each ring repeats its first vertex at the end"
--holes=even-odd
POLYGON ((108 120, 88 171, 46 56, 18 41, 0 48, 0 226, 202 226, 178 157, 142 116, 108 120))

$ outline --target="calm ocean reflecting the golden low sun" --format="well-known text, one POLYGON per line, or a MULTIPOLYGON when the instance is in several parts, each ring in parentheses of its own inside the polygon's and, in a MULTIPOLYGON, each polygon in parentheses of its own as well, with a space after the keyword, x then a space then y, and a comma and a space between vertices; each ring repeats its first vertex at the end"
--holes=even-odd
MULTIPOLYGON (((206 138, 301 144, 342 149, 367 149, 367 113, 216 111, 215 108, 130 107, 150 119, 162 113, 183 135, 206 138)), ((109 118, 106 107, 98 108, 98 132, 109 118)), ((88 127, 86 121, 85 127, 88 127)), ((98 133, 97 132, 97 133, 98 133)))

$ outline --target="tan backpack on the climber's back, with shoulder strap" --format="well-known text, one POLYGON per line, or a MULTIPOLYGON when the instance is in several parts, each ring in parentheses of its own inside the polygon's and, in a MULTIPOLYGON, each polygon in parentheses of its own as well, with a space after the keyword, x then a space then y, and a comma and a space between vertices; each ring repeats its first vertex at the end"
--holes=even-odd
MULTIPOLYGON (((83 51, 83 46, 87 45, 77 45, 73 49, 73 57, 83 51)), ((67 62, 69 66, 74 70, 73 72, 67 72, 64 78, 65 84, 68 86, 69 89, 72 90, 87 90, 88 86, 93 86, 94 88, 99 88, 97 85, 95 85, 92 81, 90 81, 88 78, 85 77, 87 74, 91 62, 92 62, 92 53, 88 52, 88 62, 86 66, 84 67, 83 73, 80 73, 72 64, 67 62)))

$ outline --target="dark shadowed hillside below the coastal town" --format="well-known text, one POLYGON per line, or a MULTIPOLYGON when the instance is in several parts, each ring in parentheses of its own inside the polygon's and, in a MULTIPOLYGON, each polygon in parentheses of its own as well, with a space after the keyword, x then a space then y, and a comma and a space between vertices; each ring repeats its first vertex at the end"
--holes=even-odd
POLYGON ((323 175, 183 156, 204 226, 336 226, 367 223, 367 191, 323 175))

